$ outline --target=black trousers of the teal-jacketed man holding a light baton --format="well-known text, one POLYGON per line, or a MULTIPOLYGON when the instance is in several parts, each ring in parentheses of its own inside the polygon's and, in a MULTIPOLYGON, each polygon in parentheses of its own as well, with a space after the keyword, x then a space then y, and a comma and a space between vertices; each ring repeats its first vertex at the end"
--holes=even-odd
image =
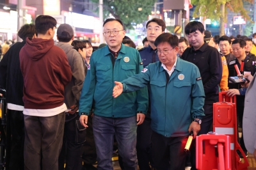
POLYGON ((164 137, 152 132, 152 158, 157 170, 185 169, 186 155, 184 151, 188 136, 164 137))

